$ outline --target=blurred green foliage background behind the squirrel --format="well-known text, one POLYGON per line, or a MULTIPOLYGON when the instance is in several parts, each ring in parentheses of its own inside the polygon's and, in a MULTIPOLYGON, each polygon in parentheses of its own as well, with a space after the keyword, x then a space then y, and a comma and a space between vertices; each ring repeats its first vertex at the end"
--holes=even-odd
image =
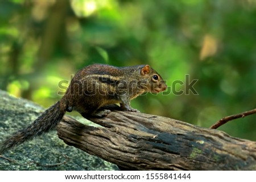
MULTIPOLYGON (((147 94, 131 105, 208 128, 256 107, 256 1, 0 2, 0 89, 47 108, 61 80, 93 63, 149 64, 168 86, 198 79, 198 95, 147 94)), ((256 140, 255 118, 219 129, 256 140)))

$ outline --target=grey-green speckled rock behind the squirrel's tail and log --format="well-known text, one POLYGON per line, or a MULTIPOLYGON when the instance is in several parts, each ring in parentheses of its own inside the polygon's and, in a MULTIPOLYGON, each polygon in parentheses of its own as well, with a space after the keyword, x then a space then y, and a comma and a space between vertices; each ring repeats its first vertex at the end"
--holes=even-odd
MULTIPOLYGON (((14 98, 0 90, 0 143, 14 132, 31 124, 44 108, 32 101, 14 98)), ((84 124, 81 117, 77 120, 84 124)), ((0 155, 0 171, 102 171, 118 170, 97 156, 85 154, 75 147, 67 146, 52 131, 0 155)), ((2 180, 0 177, 0 181, 2 180)), ((11 180, 9 180, 11 181, 11 180)))

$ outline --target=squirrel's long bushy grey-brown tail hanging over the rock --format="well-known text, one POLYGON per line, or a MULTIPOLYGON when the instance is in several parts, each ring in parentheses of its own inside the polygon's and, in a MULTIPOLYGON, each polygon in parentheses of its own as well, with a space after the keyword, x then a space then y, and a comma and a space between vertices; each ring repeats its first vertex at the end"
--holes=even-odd
POLYGON ((27 128, 19 130, 3 141, 0 146, 0 154, 14 146, 20 145, 23 142, 41 136, 54 129, 65 115, 65 110, 66 103, 63 98, 44 111, 32 124, 28 125, 27 128))

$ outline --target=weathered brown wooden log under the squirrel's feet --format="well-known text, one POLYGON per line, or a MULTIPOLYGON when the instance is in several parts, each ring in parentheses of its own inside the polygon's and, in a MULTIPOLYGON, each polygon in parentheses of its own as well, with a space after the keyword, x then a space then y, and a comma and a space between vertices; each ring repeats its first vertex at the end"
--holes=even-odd
POLYGON ((64 117, 59 138, 129 170, 256 170, 256 142, 171 118, 112 111, 89 118, 93 127, 64 117))

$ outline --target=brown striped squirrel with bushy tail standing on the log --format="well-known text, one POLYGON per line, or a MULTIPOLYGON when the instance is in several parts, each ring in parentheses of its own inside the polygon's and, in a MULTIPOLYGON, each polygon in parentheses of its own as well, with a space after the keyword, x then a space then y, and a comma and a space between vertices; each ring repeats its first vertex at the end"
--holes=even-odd
POLYGON ((0 154, 53 130, 66 111, 77 111, 83 117, 105 117, 110 110, 101 107, 119 103, 123 111, 139 112, 131 107, 131 99, 145 92, 159 93, 166 88, 162 77, 149 65, 86 66, 74 75, 63 98, 46 109, 27 128, 2 142, 0 154))

